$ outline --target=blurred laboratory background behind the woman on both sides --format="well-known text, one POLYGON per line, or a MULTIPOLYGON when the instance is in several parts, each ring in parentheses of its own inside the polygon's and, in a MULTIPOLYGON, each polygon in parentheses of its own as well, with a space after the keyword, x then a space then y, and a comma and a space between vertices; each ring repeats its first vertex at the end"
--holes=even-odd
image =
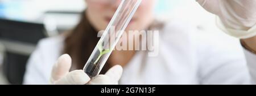
MULTIPOLYGON (((159 20, 179 18, 218 30, 214 15, 195 0, 158 0, 156 5, 159 20)), ((37 42, 75 27, 85 8, 84 0, 0 0, 0 84, 22 84, 37 42)))

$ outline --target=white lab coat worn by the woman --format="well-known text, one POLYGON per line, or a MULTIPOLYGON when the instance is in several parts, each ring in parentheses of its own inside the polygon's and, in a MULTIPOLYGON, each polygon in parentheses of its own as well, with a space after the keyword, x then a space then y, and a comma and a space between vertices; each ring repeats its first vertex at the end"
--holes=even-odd
MULTIPOLYGON (((170 21, 159 33, 159 55, 148 57, 145 51, 138 51, 123 67, 119 84, 254 83, 251 78, 256 78, 256 55, 243 53, 239 40, 206 31, 170 21)), ((52 66, 62 54, 63 41, 64 37, 58 36, 39 42, 28 60, 24 84, 48 84, 52 66)))

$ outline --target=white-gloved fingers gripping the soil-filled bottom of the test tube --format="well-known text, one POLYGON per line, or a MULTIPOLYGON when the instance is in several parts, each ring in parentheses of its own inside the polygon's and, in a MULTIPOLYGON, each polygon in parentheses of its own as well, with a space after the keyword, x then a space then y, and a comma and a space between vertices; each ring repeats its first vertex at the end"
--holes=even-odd
POLYGON ((82 70, 69 72, 70 68, 71 57, 68 54, 61 55, 53 66, 50 83, 57 85, 114 85, 118 84, 122 75, 121 66, 114 66, 105 75, 98 75, 92 79, 82 70))

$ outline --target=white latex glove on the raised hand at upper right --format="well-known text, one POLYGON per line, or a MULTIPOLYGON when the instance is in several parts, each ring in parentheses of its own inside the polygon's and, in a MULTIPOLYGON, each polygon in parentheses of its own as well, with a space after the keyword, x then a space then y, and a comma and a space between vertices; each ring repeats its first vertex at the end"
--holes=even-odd
POLYGON ((218 16, 217 25, 237 38, 256 36, 256 0, 196 0, 218 16))

